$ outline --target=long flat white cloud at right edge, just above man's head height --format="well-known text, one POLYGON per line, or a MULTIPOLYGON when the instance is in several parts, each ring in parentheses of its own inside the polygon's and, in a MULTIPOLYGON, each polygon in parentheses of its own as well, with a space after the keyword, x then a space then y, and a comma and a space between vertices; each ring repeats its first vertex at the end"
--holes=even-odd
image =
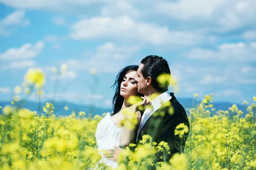
POLYGON ((255 61, 256 48, 253 46, 253 42, 245 44, 244 42, 239 43, 225 43, 219 45, 217 49, 204 49, 204 48, 193 48, 184 56, 190 59, 201 59, 210 60, 214 62, 246 62, 255 61))

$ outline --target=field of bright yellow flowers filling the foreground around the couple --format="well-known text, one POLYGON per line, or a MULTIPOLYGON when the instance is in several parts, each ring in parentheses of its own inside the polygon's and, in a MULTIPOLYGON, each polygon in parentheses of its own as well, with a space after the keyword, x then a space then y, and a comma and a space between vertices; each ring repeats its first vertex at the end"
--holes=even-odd
MULTIPOLYGON (((41 90, 45 81, 40 70, 29 70, 24 90, 41 90)), ((15 89, 19 94, 20 89, 15 89)), ((41 92, 38 92, 40 95, 41 92)), ((197 99, 195 94, 195 100, 197 99)), ((256 105, 244 101, 244 111, 233 105, 227 111, 216 111, 212 94, 195 108, 188 108, 190 132, 185 152, 169 162, 152 162, 154 154, 165 152, 168 145, 151 142, 144 136, 135 150, 130 144, 121 153, 118 169, 143 170, 148 167, 172 170, 254 170, 256 169, 256 105), (214 116, 210 116, 214 115, 214 116), (122 161, 128 156, 129 159, 122 161)), ((3 170, 83 170, 110 169, 98 164, 101 156, 95 150, 95 131, 105 114, 73 112, 55 116, 54 105, 45 103, 37 113, 18 108, 14 102, 0 107, 0 169, 3 170)), ((253 96, 256 101, 256 96, 253 96)), ((64 109, 68 109, 64 108, 64 109)), ((175 134, 182 136, 186 127, 179 125, 175 134)))

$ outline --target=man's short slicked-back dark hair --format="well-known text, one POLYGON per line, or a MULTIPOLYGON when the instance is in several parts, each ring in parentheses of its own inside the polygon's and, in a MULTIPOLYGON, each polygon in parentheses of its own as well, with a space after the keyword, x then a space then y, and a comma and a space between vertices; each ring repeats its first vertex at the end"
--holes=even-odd
MULTIPOLYGON (((171 71, 168 62, 163 57, 150 55, 141 60, 141 64, 144 64, 141 69, 141 73, 144 78, 151 77, 151 85, 156 91, 164 92, 168 90, 168 83, 165 86, 161 86, 157 82, 157 77, 161 74, 171 75, 171 71)), ((171 78, 171 77, 170 77, 171 78)))

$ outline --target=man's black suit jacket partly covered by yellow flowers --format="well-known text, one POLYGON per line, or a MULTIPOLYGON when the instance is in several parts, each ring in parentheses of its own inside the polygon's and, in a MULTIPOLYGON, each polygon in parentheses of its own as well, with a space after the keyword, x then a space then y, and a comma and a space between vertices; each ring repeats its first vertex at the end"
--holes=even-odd
MULTIPOLYGON (((171 155, 167 155, 166 157, 165 161, 167 162, 175 153, 184 151, 186 139, 189 134, 189 132, 184 134, 183 140, 174 135, 176 126, 180 123, 184 123, 189 127, 189 120, 185 109, 177 101, 174 93, 170 94, 172 96, 172 98, 169 100, 171 102, 171 106, 160 107, 157 109, 157 111, 155 111, 145 122, 144 126, 140 130, 137 140, 137 144, 139 144, 142 136, 147 134, 152 137, 152 142, 157 142, 157 144, 161 141, 167 142, 169 144, 169 151, 171 153, 171 155), (169 113, 171 107, 174 109, 172 114, 169 113), (163 112, 165 113, 164 116, 160 116, 159 114, 163 112)), ((160 159, 160 156, 163 156, 163 153, 158 153, 156 155, 154 160, 155 163, 158 161, 164 161, 163 159, 160 159)))

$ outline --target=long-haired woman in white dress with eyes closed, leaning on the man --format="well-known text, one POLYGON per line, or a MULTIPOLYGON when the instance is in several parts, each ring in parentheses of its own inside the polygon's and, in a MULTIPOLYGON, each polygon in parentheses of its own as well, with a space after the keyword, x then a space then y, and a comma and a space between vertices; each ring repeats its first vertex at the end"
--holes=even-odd
POLYGON ((131 108, 134 114, 136 114, 138 122, 140 122, 142 114, 140 111, 137 111, 137 106, 150 104, 150 100, 147 96, 137 92, 137 81, 135 79, 137 78, 138 68, 139 66, 137 65, 130 65, 119 72, 115 84, 113 85, 116 86, 115 95, 113 97, 113 113, 108 112, 99 122, 96 129, 96 147, 98 146, 99 153, 102 155, 102 159, 99 163, 104 163, 111 166, 113 169, 117 168, 117 162, 104 157, 102 150, 128 146, 134 140, 135 130, 137 130, 138 127, 138 124, 134 130, 124 126, 120 127, 119 125, 124 119, 122 111, 125 108, 131 108), (141 96, 143 102, 131 106, 127 102, 130 96, 141 96))

